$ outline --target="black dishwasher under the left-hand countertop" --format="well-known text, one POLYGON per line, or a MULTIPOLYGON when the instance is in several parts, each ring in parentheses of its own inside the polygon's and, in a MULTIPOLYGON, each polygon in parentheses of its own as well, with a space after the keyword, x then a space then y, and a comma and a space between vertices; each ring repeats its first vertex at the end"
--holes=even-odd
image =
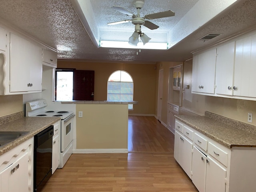
POLYGON ((40 192, 52 176, 53 125, 34 136, 34 192, 40 192))

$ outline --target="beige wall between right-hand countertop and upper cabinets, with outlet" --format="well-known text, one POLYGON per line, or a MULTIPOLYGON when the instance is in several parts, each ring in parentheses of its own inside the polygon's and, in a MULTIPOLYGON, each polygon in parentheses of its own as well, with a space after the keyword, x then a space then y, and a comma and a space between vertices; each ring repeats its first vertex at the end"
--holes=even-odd
POLYGON ((256 125, 256 101, 204 96, 191 93, 192 60, 184 62, 183 83, 190 85, 183 93, 182 106, 189 110, 204 114, 210 111, 238 121, 247 122, 248 112, 253 114, 252 123, 256 125))

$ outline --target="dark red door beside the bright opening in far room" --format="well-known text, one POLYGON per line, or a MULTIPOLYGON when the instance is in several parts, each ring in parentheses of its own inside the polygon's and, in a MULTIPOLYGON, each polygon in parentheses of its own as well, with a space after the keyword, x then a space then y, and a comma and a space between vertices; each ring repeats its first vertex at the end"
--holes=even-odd
POLYGON ((94 71, 74 70, 73 100, 94 100, 94 71))

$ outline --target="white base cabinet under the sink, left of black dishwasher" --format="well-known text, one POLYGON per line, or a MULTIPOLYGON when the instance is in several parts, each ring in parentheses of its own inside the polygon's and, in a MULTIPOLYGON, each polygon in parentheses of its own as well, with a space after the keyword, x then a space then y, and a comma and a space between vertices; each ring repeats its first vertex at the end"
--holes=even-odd
POLYGON ((34 138, 0 156, 0 192, 33 191, 34 138))

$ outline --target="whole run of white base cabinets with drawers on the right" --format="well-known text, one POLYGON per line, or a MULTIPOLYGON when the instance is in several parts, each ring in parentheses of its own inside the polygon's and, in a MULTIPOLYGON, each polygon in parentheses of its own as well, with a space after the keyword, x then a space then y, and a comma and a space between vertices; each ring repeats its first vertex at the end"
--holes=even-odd
POLYGON ((227 148, 177 119, 174 158, 199 192, 256 189, 255 147, 227 148))

